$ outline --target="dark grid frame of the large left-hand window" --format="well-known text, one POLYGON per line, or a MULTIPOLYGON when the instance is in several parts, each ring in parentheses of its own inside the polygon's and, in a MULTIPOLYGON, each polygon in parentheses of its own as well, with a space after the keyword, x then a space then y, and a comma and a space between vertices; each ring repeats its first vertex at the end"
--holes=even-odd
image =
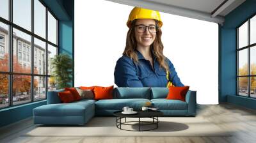
MULTIPOLYGON (((48 80, 49 80, 49 77, 51 77, 51 75, 48 75, 48 69, 46 68, 46 71, 45 73, 42 73, 42 74, 36 74, 34 73, 34 61, 35 61, 35 57, 34 57, 34 38, 37 38, 38 40, 41 40, 41 41, 44 41, 45 42, 45 50, 46 50, 46 67, 48 66, 48 62, 49 62, 49 59, 48 59, 48 44, 49 45, 52 45, 53 47, 56 47, 57 49, 57 53, 56 55, 59 54, 59 44, 58 44, 58 33, 59 33, 59 29, 58 29, 58 23, 59 23, 59 19, 56 17, 56 15, 54 15, 54 13, 50 10, 50 8, 48 8, 46 6, 46 4, 42 1, 42 0, 38 0, 43 6, 45 6, 45 38, 39 36, 38 34, 35 34, 35 25, 34 25, 34 15, 35 15, 35 10, 34 10, 34 1, 35 0, 31 0, 31 31, 28 31, 27 29, 17 25, 17 24, 14 24, 13 23, 13 0, 9 0, 8 1, 8 6, 9 6, 9 19, 6 20, 4 19, 3 17, 0 17, 0 22, 2 22, 3 24, 7 24, 8 25, 8 44, 7 44, 7 47, 8 50, 9 50, 9 62, 8 62, 8 65, 9 65, 9 70, 8 72, 1 72, 0 71, 0 74, 7 74, 8 75, 8 98, 9 98, 9 103, 8 103, 8 106, 7 107, 0 107, 0 110, 1 109, 6 109, 6 108, 10 108, 10 107, 15 107, 15 106, 19 106, 19 105, 24 105, 24 104, 28 104, 28 103, 31 103, 31 102, 39 102, 39 101, 42 101, 42 100, 47 100, 47 91, 48 91, 48 80), (49 13, 51 13, 51 15, 54 17, 54 19, 56 19, 56 44, 52 43, 51 41, 48 40, 48 11, 49 13), (26 34, 29 34, 31 36, 31 47, 30 47, 30 54, 29 54, 29 62, 31 62, 31 72, 30 73, 17 73, 17 72, 13 72, 13 28, 19 30, 19 31, 22 31, 23 33, 26 33, 26 34), (31 99, 30 101, 26 102, 26 103, 20 103, 20 104, 17 104, 17 105, 13 105, 13 92, 12 92, 12 88, 13 88, 13 75, 29 75, 30 78, 31 78, 31 87, 30 87, 30 91, 34 91, 34 79, 35 77, 45 77, 45 98, 44 99, 40 99, 40 100, 35 100, 34 97, 34 92, 31 92, 30 93, 30 96, 31 96, 31 99)), ((21 50, 19 49, 19 41, 17 41, 17 52, 21 52, 22 54, 23 53, 26 53, 27 55, 27 46, 25 46, 25 51, 23 51, 23 44, 21 45, 21 50)), ((17 57, 19 58, 19 57, 17 57)), ((23 57, 22 57, 23 59, 23 57)), ((27 59, 27 58, 26 58, 27 59)), ((27 60, 25 60, 27 61, 27 60)), ((23 66, 23 65, 22 65, 23 66)))

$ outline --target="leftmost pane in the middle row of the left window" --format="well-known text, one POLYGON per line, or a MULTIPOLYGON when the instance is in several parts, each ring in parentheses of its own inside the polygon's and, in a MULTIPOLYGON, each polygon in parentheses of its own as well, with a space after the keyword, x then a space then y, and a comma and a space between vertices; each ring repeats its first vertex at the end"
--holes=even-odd
POLYGON ((8 25, 0 22, 0 71, 9 71, 8 25))

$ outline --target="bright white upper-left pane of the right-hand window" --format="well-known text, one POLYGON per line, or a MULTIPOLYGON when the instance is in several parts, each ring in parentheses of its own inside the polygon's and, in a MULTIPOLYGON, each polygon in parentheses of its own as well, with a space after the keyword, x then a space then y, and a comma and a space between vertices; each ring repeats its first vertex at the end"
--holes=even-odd
POLYGON ((241 27, 238 29, 238 43, 239 48, 245 47, 248 45, 248 22, 245 22, 241 27))

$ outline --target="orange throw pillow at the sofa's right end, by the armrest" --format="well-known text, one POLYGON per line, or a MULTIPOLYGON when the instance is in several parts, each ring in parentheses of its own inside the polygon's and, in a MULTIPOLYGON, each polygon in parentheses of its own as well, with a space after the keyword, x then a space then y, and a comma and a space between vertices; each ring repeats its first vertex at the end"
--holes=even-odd
POLYGON ((183 86, 183 87, 170 86, 169 93, 168 93, 166 99, 182 100, 183 102, 185 102, 188 89, 189 89, 189 86, 183 86))

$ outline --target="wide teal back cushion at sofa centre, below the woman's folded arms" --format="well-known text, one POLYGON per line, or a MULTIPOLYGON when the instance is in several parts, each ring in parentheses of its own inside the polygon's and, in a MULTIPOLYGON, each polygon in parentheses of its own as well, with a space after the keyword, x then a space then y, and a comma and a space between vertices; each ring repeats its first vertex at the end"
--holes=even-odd
POLYGON ((150 99, 150 87, 116 87, 113 98, 144 98, 150 99))

